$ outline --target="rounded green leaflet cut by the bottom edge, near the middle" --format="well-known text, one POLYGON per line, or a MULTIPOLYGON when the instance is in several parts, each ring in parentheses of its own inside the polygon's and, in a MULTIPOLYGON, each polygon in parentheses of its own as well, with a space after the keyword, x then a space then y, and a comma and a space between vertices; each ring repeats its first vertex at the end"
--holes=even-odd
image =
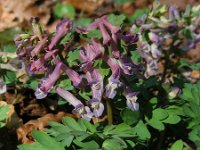
POLYGON ((103 142, 103 150, 122 150, 120 143, 116 139, 107 139, 103 142))

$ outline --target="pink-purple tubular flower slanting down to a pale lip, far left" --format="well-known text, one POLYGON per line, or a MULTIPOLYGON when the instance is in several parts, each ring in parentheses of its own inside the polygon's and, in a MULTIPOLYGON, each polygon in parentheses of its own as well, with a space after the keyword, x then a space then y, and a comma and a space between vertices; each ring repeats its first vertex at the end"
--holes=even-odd
POLYGON ((47 96, 51 88, 59 79, 62 71, 61 69, 62 69, 62 63, 60 62, 56 65, 53 72, 49 74, 47 78, 42 80, 41 84, 39 84, 38 88, 35 91, 35 96, 37 99, 43 99, 47 96))

